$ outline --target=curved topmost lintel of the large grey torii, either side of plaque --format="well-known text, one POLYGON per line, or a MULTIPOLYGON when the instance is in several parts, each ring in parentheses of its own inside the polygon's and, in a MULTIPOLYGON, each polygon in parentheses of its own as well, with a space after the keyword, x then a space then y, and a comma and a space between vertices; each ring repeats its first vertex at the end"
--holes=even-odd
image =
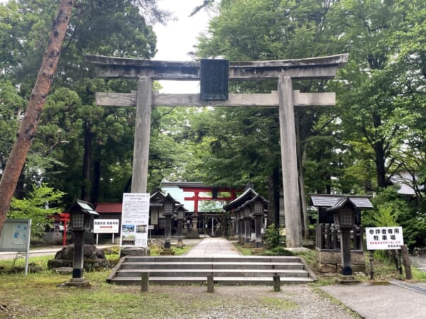
MULTIPOLYGON (((229 62, 230 80, 278 79, 330 79, 337 69, 348 61, 349 54, 311 57, 306 59, 229 62)), ((102 55, 84 55, 86 62, 98 68, 99 77, 154 80, 199 80, 200 62, 141 60, 102 55)))

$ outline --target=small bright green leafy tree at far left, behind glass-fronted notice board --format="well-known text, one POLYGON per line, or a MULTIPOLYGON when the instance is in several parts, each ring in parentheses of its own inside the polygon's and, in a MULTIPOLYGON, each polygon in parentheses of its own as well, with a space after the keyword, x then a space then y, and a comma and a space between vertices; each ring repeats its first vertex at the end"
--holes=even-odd
POLYGON ((60 213, 62 208, 57 206, 65 193, 57 191, 46 184, 36 186, 28 194, 28 198, 12 198, 9 218, 31 218, 31 233, 43 235, 45 227, 53 223, 49 215, 60 213))

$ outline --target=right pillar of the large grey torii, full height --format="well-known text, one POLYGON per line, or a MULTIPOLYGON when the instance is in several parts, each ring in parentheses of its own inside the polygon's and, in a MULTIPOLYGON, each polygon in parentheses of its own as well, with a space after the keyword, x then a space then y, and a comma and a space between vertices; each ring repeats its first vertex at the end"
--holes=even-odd
POLYGON ((280 104, 281 167, 283 169, 286 243, 287 247, 302 247, 295 109, 291 77, 280 77, 278 79, 278 99, 280 104))

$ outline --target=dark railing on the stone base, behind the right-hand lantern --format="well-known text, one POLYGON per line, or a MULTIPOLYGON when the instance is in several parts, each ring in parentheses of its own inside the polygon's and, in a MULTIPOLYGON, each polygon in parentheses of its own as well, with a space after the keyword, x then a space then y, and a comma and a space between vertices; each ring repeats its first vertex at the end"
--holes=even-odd
MULTIPOLYGON (((320 250, 340 250, 340 231, 334 225, 317 224, 316 247, 320 250)), ((363 250, 363 228, 351 230, 351 250, 363 250)))

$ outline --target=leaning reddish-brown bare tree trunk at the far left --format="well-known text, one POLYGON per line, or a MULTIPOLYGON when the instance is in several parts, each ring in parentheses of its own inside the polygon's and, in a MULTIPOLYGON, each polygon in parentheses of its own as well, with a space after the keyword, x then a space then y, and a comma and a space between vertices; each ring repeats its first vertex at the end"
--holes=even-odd
POLYGON ((0 181, 0 231, 3 228, 7 213, 11 206, 13 192, 16 189, 19 175, 21 174, 23 164, 25 163, 28 150, 31 147, 31 141, 37 130, 38 119, 43 111, 46 96, 48 96, 50 85, 53 82, 53 75, 60 57, 60 48, 65 37, 65 32, 70 21, 73 0, 61 0, 55 20, 53 21, 52 31, 45 50, 43 62, 38 72, 33 91, 28 101, 25 117, 13 145, 11 154, 4 168, 3 176, 0 181))

